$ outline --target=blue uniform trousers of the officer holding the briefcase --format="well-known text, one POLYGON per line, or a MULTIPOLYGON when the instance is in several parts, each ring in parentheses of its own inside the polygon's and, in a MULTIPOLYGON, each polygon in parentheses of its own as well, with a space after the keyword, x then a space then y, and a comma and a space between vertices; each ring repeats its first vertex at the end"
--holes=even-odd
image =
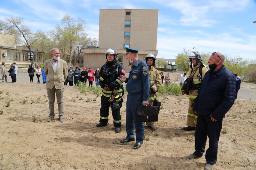
POLYGON ((144 122, 136 121, 136 107, 143 103, 143 94, 128 92, 126 101, 126 139, 134 138, 136 128, 136 143, 142 143, 144 138, 144 122))

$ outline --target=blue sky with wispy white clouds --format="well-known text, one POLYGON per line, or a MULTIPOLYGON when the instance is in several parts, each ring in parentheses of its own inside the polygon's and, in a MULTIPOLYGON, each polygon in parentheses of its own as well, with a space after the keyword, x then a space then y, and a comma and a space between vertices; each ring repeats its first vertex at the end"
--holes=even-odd
POLYGON ((47 33, 68 14, 82 17, 98 39, 100 9, 158 9, 157 58, 175 59, 195 47, 256 59, 256 0, 0 0, 0 19, 23 17, 47 33))

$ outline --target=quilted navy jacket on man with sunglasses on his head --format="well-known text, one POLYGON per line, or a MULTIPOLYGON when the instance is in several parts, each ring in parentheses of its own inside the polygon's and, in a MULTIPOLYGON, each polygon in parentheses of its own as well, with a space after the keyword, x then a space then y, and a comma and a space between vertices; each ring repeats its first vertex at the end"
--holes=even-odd
POLYGON ((236 97, 236 78, 233 73, 222 68, 213 74, 208 70, 196 98, 194 110, 198 115, 211 115, 214 119, 225 118, 236 97))

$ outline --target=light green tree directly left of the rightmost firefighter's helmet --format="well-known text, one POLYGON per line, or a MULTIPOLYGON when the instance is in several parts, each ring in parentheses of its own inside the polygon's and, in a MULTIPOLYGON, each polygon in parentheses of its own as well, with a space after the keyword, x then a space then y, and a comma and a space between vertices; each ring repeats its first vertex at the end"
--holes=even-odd
POLYGON ((188 72, 189 67, 190 67, 190 59, 188 58, 188 56, 189 56, 190 52, 186 48, 183 48, 182 51, 183 52, 179 53, 176 56, 175 64, 182 64, 183 65, 182 71, 188 72))

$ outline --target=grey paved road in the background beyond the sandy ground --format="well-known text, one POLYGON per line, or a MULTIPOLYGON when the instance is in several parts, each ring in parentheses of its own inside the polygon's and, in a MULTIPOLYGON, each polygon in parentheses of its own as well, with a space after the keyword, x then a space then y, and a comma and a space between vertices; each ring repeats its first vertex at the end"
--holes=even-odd
MULTIPOLYGON (((18 69, 18 74, 17 74, 17 83, 19 82, 24 82, 24 83, 29 83, 29 76, 27 72, 23 72, 23 71, 27 71, 28 69, 18 69)), ((8 73, 9 75, 9 73, 8 73)), ((7 80, 8 82, 11 82, 12 79, 10 76, 7 76, 7 80)), ((2 83, 2 81, 0 81, 2 83)), ((36 75, 34 76, 34 83, 37 82, 37 77, 36 75)), ((40 83, 43 83, 42 81, 42 76, 40 76, 40 83)), ((87 82, 88 84, 88 82, 87 82)), ((244 85, 250 85, 252 87, 256 87, 256 84, 252 84, 252 83, 244 83, 242 82, 242 84, 244 85)), ((93 86, 95 86, 95 82, 93 82, 93 86)), ((238 95, 237 95, 237 99, 242 99, 242 100, 256 100, 256 89, 251 89, 251 88, 241 88, 238 91, 238 95)))

